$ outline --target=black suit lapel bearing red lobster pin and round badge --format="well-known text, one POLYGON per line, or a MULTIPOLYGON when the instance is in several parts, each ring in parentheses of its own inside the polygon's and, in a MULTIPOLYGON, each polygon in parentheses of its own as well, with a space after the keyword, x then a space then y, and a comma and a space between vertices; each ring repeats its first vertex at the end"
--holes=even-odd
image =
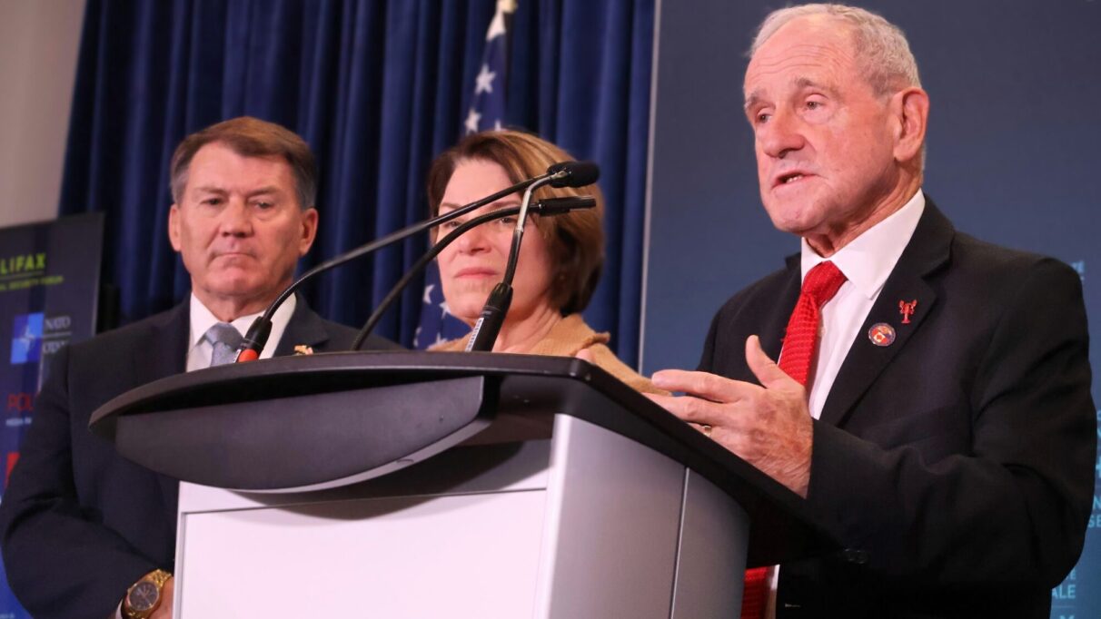
POLYGON ((822 422, 840 425, 875 378, 922 328, 925 317, 937 301, 927 277, 948 262, 953 235, 951 223, 928 200, 909 244, 883 285, 841 364, 822 407, 822 422), (916 301, 908 323, 903 323, 900 301, 916 301), (890 345, 877 346, 869 338, 872 327, 880 323, 894 329, 895 340, 890 345))

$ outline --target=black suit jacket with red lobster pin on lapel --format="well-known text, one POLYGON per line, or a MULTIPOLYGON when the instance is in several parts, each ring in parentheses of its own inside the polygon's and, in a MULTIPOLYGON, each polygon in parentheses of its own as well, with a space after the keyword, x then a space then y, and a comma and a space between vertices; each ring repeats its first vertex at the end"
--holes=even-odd
MULTIPOLYGON (((730 299, 700 369, 756 383, 745 339, 776 358, 799 286, 794 256, 730 299)), ((846 551, 783 565, 777 616, 1046 619, 1093 494, 1088 338, 1072 269, 928 202, 814 424, 807 501, 846 551)))

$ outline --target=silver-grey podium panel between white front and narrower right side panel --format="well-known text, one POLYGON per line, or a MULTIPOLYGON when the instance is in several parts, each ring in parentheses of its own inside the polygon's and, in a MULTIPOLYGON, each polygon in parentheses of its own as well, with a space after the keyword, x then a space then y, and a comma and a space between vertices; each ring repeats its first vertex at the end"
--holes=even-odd
POLYGON ((685 467, 555 418, 535 617, 669 617, 685 467))

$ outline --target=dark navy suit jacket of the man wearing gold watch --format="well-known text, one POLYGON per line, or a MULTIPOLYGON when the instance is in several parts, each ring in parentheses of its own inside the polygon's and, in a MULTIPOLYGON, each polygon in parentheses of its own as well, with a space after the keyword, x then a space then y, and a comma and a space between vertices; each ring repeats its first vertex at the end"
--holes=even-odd
MULTIPOLYGON (((143 574, 172 570, 178 483, 118 455, 88 420, 109 399, 184 372, 188 332, 185 301, 54 358, 0 506, 8 581, 34 617, 105 619, 143 574)), ((299 298, 275 354, 348 350, 355 335, 299 298)))

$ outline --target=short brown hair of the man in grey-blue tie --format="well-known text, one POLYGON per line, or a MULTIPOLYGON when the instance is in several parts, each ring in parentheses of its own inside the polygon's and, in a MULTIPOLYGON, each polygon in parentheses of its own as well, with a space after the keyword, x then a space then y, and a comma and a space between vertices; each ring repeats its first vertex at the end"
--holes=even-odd
POLYGON ((197 131, 176 146, 172 155, 172 199, 178 205, 187 185, 187 168, 199 148, 212 143, 225 144, 242 157, 280 156, 294 173, 298 207, 307 209, 317 200, 317 165, 306 141, 297 133, 273 122, 252 117, 238 117, 197 131))

